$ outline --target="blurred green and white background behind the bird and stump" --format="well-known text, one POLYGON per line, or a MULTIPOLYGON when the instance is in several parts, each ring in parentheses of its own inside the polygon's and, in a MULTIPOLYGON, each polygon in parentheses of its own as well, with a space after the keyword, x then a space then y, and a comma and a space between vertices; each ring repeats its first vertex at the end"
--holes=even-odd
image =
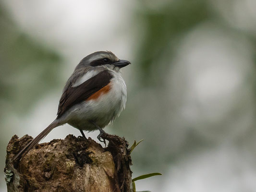
MULTIPOLYGON (((55 119, 77 63, 111 50, 132 65, 126 109, 106 131, 145 139, 133 177, 163 174, 138 191, 255 191, 255 10, 255 0, 1 1, 0 168, 12 135, 55 119)), ((43 142, 67 134, 80 135, 64 125, 43 142)))

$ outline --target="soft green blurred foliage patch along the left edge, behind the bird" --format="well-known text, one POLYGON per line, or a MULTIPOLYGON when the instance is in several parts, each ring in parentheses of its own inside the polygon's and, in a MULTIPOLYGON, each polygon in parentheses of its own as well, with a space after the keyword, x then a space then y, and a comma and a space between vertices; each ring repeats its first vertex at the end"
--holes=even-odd
POLYGON ((1 7, 0 36, 0 98, 12 111, 25 114, 59 82, 61 56, 21 32, 1 7))

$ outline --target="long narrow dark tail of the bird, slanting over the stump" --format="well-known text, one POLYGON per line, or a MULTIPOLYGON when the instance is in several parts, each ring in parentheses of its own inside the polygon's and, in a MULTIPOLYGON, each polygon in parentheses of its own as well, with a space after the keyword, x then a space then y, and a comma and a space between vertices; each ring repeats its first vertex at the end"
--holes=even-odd
MULTIPOLYGON (((49 126, 42 131, 37 137, 35 137, 29 144, 27 144, 16 156, 14 156, 13 160, 18 159, 19 157, 23 157, 26 155, 27 152, 29 152, 35 145, 37 145, 43 138, 45 138, 46 135, 55 127, 60 126, 60 123, 58 120, 54 120, 49 126)), ((21 159, 20 158, 20 159, 21 159)))

